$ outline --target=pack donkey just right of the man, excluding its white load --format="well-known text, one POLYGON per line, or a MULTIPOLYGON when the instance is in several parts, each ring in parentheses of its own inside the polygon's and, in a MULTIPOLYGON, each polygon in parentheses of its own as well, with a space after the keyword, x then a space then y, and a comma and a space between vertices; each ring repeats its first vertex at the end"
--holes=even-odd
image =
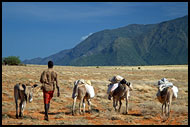
POLYGON ((85 113, 85 99, 88 102, 89 113, 91 113, 90 95, 86 91, 84 80, 76 80, 74 82, 72 98, 73 98, 72 115, 74 115, 75 105, 76 105, 76 100, 77 99, 80 100, 79 114, 82 114, 82 112, 81 112, 82 105, 83 105, 83 114, 85 113))

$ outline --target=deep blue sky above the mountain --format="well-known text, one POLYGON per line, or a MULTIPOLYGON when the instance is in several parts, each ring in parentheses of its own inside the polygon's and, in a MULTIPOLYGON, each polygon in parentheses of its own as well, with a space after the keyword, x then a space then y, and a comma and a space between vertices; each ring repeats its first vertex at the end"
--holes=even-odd
POLYGON ((188 2, 3 2, 2 56, 47 57, 92 33, 188 14, 188 2))

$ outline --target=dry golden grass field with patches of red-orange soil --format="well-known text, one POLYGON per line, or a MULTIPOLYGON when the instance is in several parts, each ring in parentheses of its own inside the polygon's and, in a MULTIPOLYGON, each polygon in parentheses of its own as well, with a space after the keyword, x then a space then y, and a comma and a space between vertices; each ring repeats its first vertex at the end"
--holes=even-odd
MULTIPOLYGON (((34 93, 33 102, 27 103, 24 118, 16 119, 13 87, 16 83, 39 83, 44 65, 2 66, 2 125, 188 125, 188 66, 112 66, 71 67, 55 66, 59 75, 60 97, 57 91, 51 100, 49 121, 44 119, 42 91, 34 93), (107 99, 108 79, 121 75, 133 83, 130 93, 129 114, 125 115, 125 103, 120 113, 107 99), (167 78, 178 87, 178 98, 173 100, 171 117, 163 122, 161 104, 156 98, 157 81, 167 78), (92 114, 78 113, 72 116, 72 89, 77 79, 91 80, 95 89, 92 99, 92 114)), ((86 104, 86 110, 88 105, 86 104)))

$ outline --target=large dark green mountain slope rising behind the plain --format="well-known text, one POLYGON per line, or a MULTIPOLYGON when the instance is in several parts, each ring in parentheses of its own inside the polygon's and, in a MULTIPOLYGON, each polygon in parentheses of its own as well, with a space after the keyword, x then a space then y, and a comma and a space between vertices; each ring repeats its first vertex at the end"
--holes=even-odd
POLYGON ((72 49, 25 64, 104 66, 188 64, 188 16, 92 34, 72 49))

